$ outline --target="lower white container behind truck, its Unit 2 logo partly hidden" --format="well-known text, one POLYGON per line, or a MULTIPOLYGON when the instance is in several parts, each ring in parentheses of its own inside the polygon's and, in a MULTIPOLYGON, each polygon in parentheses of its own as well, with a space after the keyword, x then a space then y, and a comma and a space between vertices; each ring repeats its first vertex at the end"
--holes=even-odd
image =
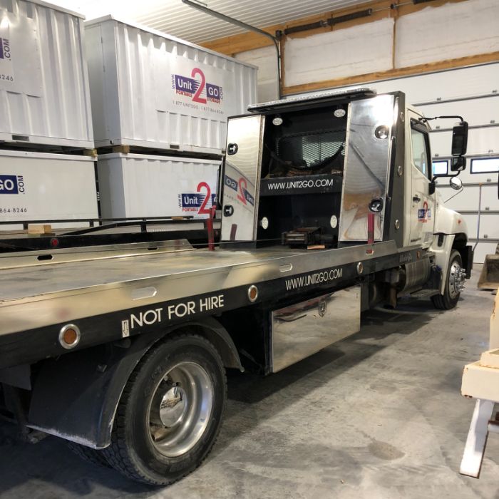
POLYGON ((103 218, 205 218, 217 191, 220 161, 105 154, 98 157, 103 218))

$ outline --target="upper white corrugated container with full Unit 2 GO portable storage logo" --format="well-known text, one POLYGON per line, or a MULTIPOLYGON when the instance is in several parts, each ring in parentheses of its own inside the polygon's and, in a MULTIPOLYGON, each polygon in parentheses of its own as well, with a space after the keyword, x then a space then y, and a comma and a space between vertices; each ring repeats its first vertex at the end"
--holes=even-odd
POLYGON ((112 16, 88 21, 96 146, 220 154, 227 116, 256 101, 257 68, 112 16))

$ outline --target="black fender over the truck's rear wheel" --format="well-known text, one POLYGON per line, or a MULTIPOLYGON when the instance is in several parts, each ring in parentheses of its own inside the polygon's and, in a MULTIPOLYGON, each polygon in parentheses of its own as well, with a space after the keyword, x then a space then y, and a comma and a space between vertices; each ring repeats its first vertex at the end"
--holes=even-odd
POLYGON ((145 352, 160 339, 195 326, 212 341, 226 367, 244 371, 227 330, 208 317, 43 362, 33 386, 27 426, 83 446, 110 444, 121 393, 145 352))

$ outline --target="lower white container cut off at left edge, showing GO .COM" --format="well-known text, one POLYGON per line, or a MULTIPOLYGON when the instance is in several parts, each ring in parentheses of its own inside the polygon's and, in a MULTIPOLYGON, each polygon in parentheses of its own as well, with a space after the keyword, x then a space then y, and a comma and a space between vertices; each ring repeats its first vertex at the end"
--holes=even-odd
MULTIPOLYGON (((0 150, 0 229, 17 220, 97 218, 95 163, 88 156, 0 150)), ((88 227, 88 222, 52 227, 88 227)))

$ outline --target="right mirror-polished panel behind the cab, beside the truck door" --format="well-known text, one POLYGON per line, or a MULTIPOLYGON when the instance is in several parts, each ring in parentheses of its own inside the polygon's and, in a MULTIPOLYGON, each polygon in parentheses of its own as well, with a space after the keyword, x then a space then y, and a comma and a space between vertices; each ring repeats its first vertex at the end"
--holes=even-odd
POLYGON ((369 205, 376 207, 374 240, 383 240, 395 96, 382 95, 350 104, 341 194, 339 241, 368 239, 369 205))

